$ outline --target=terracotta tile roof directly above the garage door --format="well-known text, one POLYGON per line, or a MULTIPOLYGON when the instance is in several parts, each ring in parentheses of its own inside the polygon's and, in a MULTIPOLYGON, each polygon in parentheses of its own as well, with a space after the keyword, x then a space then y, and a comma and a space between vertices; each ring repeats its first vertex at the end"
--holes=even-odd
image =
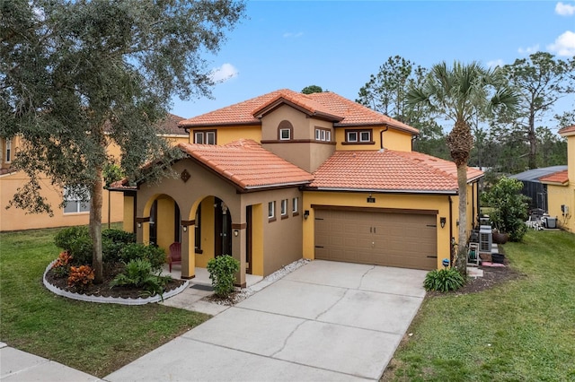
MULTIPOLYGON (((482 177, 467 169, 467 179, 482 177)), ((388 192, 457 192, 455 163, 420 152, 335 152, 314 172, 311 188, 388 192)))

